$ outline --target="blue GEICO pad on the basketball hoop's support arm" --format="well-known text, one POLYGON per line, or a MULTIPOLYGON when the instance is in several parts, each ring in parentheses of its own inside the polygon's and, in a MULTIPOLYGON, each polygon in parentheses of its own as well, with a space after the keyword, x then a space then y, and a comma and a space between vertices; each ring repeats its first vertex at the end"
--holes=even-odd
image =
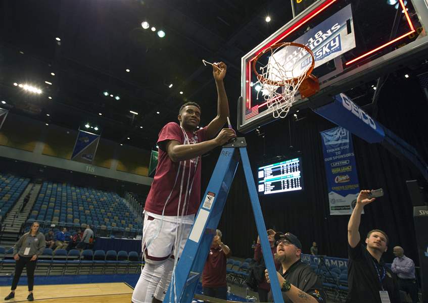
POLYGON ((369 143, 382 142, 385 138, 382 124, 371 118, 343 93, 336 95, 334 102, 317 108, 314 112, 337 125, 345 127, 369 143))

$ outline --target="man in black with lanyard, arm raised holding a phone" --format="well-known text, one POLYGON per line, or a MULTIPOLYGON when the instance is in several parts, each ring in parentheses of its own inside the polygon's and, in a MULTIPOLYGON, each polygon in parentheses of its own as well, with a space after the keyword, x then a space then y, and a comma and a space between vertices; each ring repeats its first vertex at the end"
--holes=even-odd
POLYGON ((388 248, 388 236, 382 230, 374 229, 367 234, 365 247, 360 243, 358 231, 361 213, 365 205, 375 198, 370 190, 361 190, 357 204, 348 223, 348 297, 347 303, 400 303, 397 280, 381 259, 388 248))

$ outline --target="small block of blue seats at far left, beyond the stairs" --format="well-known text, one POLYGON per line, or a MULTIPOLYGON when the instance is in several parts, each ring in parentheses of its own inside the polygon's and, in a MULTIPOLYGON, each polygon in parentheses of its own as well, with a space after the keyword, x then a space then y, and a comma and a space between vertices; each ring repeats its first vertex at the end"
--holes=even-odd
POLYGON ((0 221, 8 214, 30 179, 0 173, 0 221))

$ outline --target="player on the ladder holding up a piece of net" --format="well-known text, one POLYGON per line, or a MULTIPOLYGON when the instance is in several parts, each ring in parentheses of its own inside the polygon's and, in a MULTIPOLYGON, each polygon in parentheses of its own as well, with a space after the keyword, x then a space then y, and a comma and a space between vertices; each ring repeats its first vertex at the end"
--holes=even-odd
POLYGON ((221 129, 229 116, 225 75, 223 62, 213 64, 217 116, 206 127, 197 130, 201 108, 188 102, 179 110, 180 124, 170 122, 159 133, 158 166, 144 210, 141 247, 146 264, 133 303, 163 301, 201 202, 201 156, 236 137, 232 129, 221 129))

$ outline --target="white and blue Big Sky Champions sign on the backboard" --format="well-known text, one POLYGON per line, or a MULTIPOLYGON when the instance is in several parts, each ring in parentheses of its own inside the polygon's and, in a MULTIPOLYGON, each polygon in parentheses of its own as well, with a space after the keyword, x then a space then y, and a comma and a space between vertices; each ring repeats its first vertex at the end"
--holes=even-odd
MULTIPOLYGON (((355 48, 351 5, 346 6, 293 41, 307 45, 315 58, 315 68, 355 48)), ((284 75, 276 67, 285 66, 286 76, 297 77, 308 69, 312 57, 301 48, 286 47, 269 58, 269 79, 282 81, 284 75)))

